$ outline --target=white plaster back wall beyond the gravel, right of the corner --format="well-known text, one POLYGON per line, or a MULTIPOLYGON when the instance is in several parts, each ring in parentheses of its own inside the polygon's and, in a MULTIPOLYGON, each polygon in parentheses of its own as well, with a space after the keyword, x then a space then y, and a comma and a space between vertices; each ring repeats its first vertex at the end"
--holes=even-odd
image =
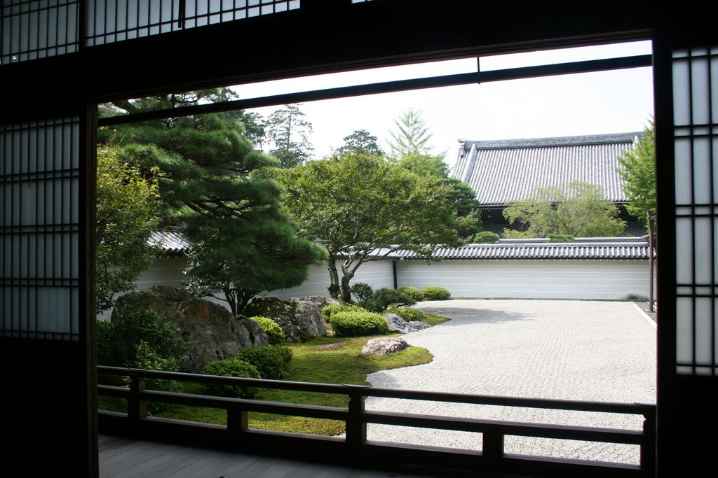
POLYGON ((452 297, 618 300, 648 296, 648 261, 402 261, 397 282, 439 285, 452 297))

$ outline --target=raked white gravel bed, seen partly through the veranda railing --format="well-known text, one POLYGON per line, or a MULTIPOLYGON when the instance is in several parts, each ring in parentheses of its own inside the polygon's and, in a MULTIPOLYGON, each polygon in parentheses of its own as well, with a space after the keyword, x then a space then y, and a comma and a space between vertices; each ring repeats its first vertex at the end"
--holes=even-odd
MULTIPOLYGON (((632 302, 453 300, 420 302, 451 317, 403 335, 428 348, 425 365, 371 373, 373 386, 623 403, 656 402, 656 330, 632 302)), ((368 398, 369 410, 545 424, 640 429, 643 417, 368 398)), ((481 449, 481 435, 368 426, 368 439, 481 449)), ((634 445, 507 436, 507 453, 638 463, 634 445)))

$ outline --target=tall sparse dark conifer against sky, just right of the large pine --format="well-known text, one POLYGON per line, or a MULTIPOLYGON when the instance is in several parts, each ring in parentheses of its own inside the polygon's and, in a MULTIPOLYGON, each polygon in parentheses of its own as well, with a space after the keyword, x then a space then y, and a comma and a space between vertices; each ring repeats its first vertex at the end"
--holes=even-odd
POLYGON ((284 105, 269 115, 264 124, 266 138, 271 142, 269 154, 279 159, 283 168, 304 164, 312 158, 314 147, 309 142, 312 123, 302 119, 301 105, 284 105))

